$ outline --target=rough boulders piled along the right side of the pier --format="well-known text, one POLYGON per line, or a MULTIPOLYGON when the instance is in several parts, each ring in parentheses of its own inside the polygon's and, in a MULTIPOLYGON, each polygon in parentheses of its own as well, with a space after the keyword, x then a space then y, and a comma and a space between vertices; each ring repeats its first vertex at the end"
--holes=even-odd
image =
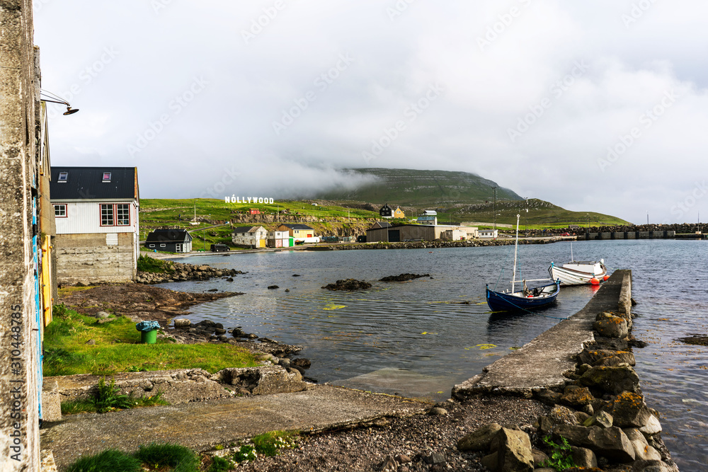
MULTIPOLYGON (((484 374, 453 388, 456 398, 516 395, 533 398, 551 407, 550 413, 539 416, 533 425, 502 427, 490 423, 466 434, 457 443, 459 451, 484 454, 482 464, 492 471, 547 472, 553 470, 544 468, 553 461, 549 457, 554 448, 549 447, 549 442, 561 445, 567 441, 569 447, 565 452, 558 452, 558 448, 555 452, 565 454, 578 468, 678 471, 661 439, 658 412, 646 405, 639 376, 633 368, 632 347, 644 347, 645 343, 631 334, 634 316, 627 309, 631 275, 628 271, 619 272, 625 273, 618 274, 623 277, 622 284, 612 297, 617 309, 601 311, 588 320, 591 322, 591 340, 583 343, 571 369, 562 373, 564 381, 553 382, 551 386, 537 383, 506 389, 484 382, 485 374, 493 370, 492 364, 484 374)), ((583 310, 592 309, 591 305, 592 301, 583 310)), ((581 311, 578 315, 587 313, 581 311)), ((568 327, 577 330, 583 326, 580 323, 573 325, 572 317, 568 321, 565 328, 556 330, 557 335, 564 335, 563 330, 568 327)), ((552 339, 548 336, 544 340, 552 339)), ((534 361, 529 356, 517 357, 525 362, 534 361)), ((508 369, 510 366, 503 367, 508 369)))

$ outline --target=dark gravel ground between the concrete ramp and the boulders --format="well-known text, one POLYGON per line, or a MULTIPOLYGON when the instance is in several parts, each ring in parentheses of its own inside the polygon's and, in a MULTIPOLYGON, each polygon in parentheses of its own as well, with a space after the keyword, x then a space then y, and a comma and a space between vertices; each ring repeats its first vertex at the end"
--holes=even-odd
MULTIPOLYGON (((410 461, 399 457, 404 459, 399 472, 486 471, 480 464, 481 454, 457 451, 458 439, 491 422, 518 425, 532 433, 533 422, 549 411, 537 401, 508 397, 447 401, 438 406, 445 408, 447 415, 382 418, 354 429, 302 434, 295 449, 283 450, 275 457, 259 457, 236 470, 381 471, 389 456, 404 455, 410 461)), ((531 436, 533 441, 534 434, 531 436)))

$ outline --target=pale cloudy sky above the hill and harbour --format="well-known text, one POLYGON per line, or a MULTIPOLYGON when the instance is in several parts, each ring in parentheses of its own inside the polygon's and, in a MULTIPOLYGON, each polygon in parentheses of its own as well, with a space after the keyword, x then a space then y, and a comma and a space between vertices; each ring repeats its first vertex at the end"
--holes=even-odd
MULTIPOLYGON (((143 198, 284 199, 346 168, 476 173, 708 220, 708 2, 34 0, 54 166, 143 198)), ((393 202, 395 203, 395 202, 393 202)))

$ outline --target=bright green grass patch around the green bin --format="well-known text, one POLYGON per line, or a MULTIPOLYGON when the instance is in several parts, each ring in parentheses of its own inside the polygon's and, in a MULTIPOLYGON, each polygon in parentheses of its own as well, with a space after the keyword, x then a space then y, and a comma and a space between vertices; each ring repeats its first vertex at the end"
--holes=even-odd
POLYGON ((45 331, 45 376, 201 368, 215 373, 226 367, 255 367, 250 352, 228 344, 140 344, 129 318, 97 324, 96 318, 64 309, 45 331), (95 344, 86 344, 94 340, 95 344))

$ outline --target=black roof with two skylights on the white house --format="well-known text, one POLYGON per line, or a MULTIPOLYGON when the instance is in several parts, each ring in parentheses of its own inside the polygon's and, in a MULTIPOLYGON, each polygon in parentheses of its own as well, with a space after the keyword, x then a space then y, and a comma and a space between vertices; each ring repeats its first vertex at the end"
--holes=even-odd
POLYGON ((52 167, 50 200, 113 199, 139 200, 137 167, 52 167), (104 173, 110 173, 108 180, 104 173))

